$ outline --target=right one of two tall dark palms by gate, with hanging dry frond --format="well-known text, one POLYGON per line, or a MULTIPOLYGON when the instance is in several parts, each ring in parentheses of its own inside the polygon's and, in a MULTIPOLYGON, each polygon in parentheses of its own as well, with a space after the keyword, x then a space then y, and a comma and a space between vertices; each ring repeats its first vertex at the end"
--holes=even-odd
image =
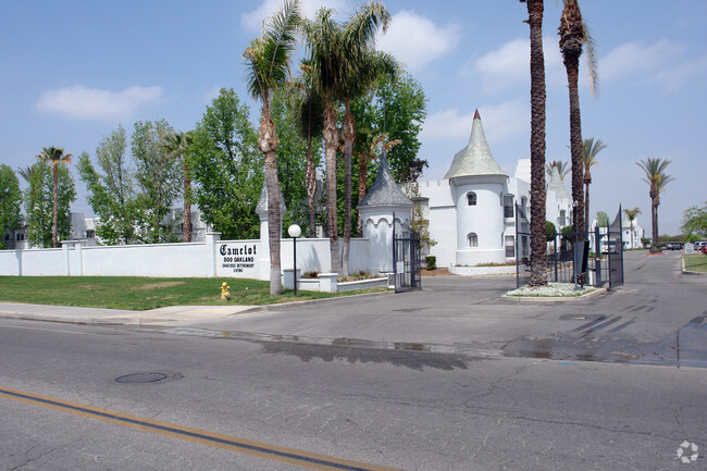
MULTIPOLYGON (((572 200, 576 206, 575 227, 584 227, 584 196, 582 186, 584 184, 583 165, 582 165, 582 119, 580 113, 580 95, 579 95, 579 72, 580 55, 586 45, 590 85, 594 90, 596 86, 597 67, 594 55, 594 44, 588 34, 586 25, 582 20, 582 12, 578 0, 563 0, 565 8, 560 18, 560 52, 562 62, 567 71, 567 80, 570 98, 570 151, 572 161, 572 200)), ((579 240, 584 237, 580 235, 579 240)))

